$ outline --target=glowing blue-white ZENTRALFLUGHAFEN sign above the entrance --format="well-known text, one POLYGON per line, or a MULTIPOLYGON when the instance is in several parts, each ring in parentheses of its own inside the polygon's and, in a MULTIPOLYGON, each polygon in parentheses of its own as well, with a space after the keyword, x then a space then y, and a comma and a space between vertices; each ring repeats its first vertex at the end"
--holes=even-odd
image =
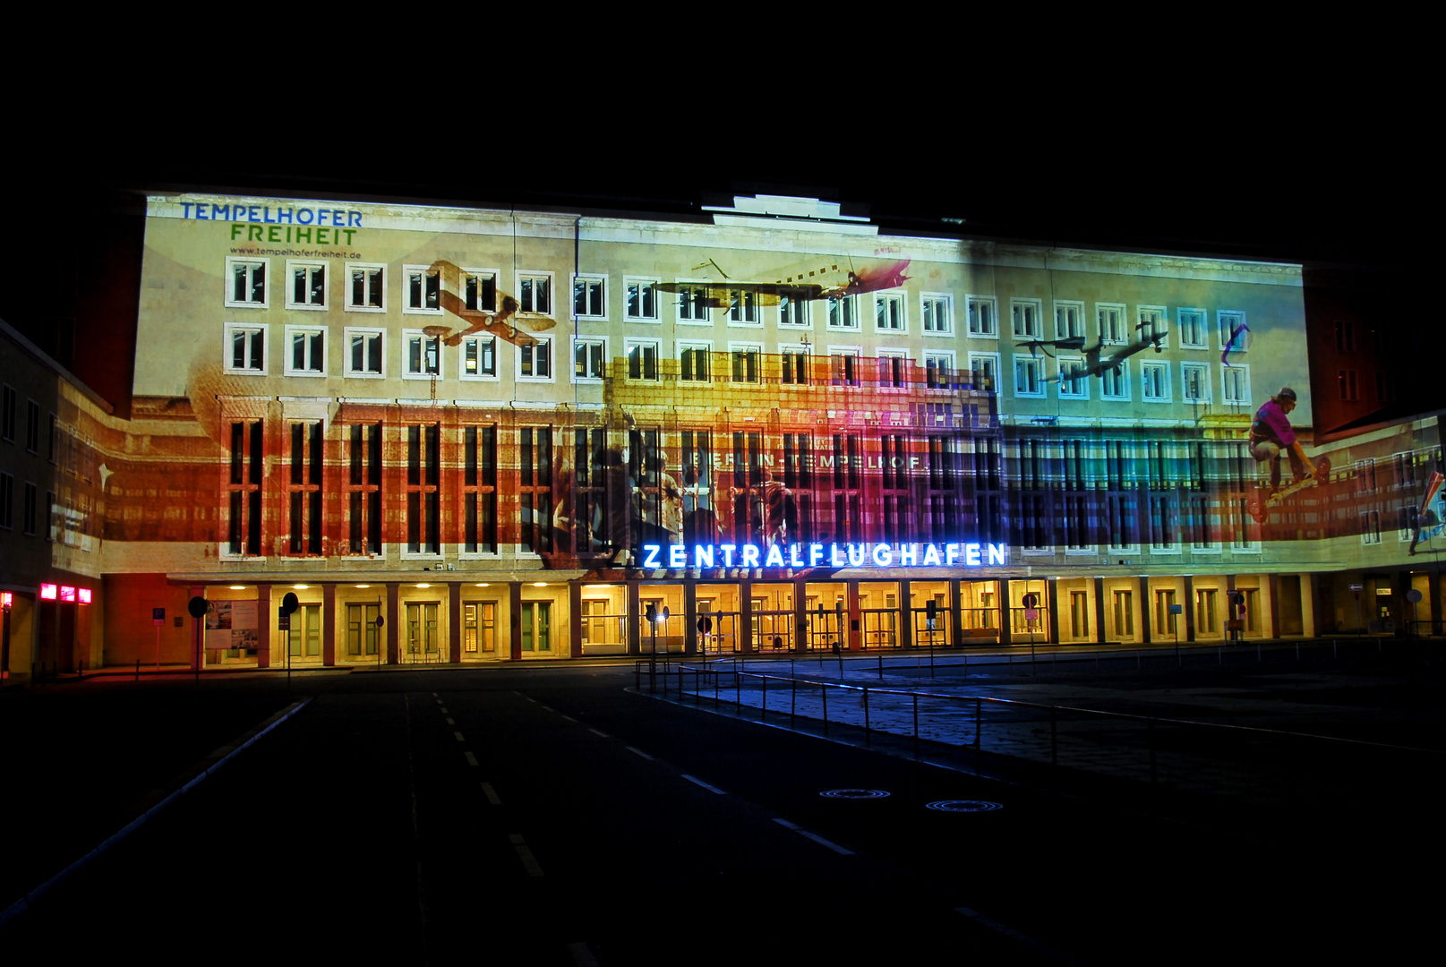
MULTIPOLYGON (((642 567, 645 568, 862 568, 872 564, 876 568, 886 568, 895 564, 894 546, 888 543, 790 543, 769 545, 766 551, 756 543, 696 543, 693 545, 693 562, 688 564, 688 548, 683 543, 669 543, 667 562, 662 561, 664 549, 661 543, 645 543, 642 567), (827 548, 827 554, 824 551, 827 548)), ((898 567, 901 568, 936 568, 936 567, 970 567, 977 568, 1005 564, 1005 545, 1002 543, 901 543, 898 546, 898 567), (923 548, 923 551, 920 551, 923 548)))

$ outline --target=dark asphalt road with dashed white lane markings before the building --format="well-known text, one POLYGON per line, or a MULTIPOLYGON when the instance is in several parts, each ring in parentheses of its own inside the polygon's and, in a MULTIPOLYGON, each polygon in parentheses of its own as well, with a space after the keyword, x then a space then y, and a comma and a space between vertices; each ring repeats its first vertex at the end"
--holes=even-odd
POLYGON ((1404 957, 1439 830, 1154 820, 678 707, 630 669, 328 678, 0 931, 292 961, 1404 957), (881 791, 860 799, 827 791, 881 791), (973 812, 941 801, 996 804, 973 812))

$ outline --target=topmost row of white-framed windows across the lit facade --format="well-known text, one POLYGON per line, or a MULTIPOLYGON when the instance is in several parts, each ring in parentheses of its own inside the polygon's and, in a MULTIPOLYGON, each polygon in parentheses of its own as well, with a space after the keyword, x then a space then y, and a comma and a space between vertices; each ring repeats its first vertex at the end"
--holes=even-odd
MULTIPOLYGON (((268 259, 227 259, 227 298, 228 308, 270 308, 270 288, 268 286, 268 259)), ((331 269, 324 263, 286 262, 288 279, 285 283, 286 308, 322 311, 330 308, 327 289, 327 273, 331 269)), ((341 269, 343 308, 348 312, 386 312, 388 283, 385 265, 347 265, 341 269)), ((458 315, 466 312, 496 312, 499 305, 496 269, 461 269, 455 283, 457 291, 447 288, 442 270, 432 266, 402 266, 401 305, 403 314, 442 315, 453 311, 458 315)), ((584 322, 604 322, 609 319, 609 292, 606 275, 576 275, 573 276, 571 318, 584 322)), ((668 301, 668 293, 661 289, 661 279, 623 278, 622 318, 629 322, 661 322, 661 306, 668 301)), ((781 328, 811 328, 813 304, 800 292, 791 295, 787 289, 774 292, 759 292, 740 286, 727 288, 726 298, 717 295, 719 286, 711 283, 678 282, 675 305, 675 321, 680 324, 713 325, 717 311, 729 325, 762 325, 765 315, 781 328), (726 305, 722 305, 726 302, 726 305), (774 305, 768 305, 774 304, 774 305)), ((554 304, 554 273, 552 272, 518 272, 516 273, 516 309, 538 315, 555 315, 554 304)), ((904 334, 910 331, 910 301, 908 295, 899 291, 875 292, 870 296, 830 296, 824 299, 820 312, 827 328, 840 331, 857 331, 862 322, 862 298, 872 301, 873 330, 876 332, 904 334)), ((1086 304, 1083 301, 1053 301, 1054 327, 1053 338, 1095 337, 1106 345, 1125 345, 1135 338, 1144 341, 1161 337, 1161 345, 1168 345, 1168 309, 1161 305, 1138 305, 1134 317, 1128 315, 1126 305, 1119 302, 1096 302, 1093 331, 1086 332, 1086 304)), ((943 292, 923 292, 918 295, 920 331, 925 335, 954 335, 954 306, 953 296, 943 292)), ((1177 308, 1176 331, 1180 345, 1184 348, 1210 348, 1209 312, 1202 308, 1177 308)), ((1044 325, 1043 299, 1009 299, 1011 332, 1014 338, 1050 338, 1044 325)), ((964 332, 972 337, 999 338, 998 298, 983 295, 964 296, 964 332)), ((1245 350, 1246 325, 1245 314, 1233 309, 1220 309, 1215 314, 1213 322, 1218 335, 1216 350, 1245 350)))

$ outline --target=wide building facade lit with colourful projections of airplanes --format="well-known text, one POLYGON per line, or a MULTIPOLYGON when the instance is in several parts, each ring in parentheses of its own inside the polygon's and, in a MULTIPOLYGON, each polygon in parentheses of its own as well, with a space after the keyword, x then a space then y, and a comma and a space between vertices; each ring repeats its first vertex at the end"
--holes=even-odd
POLYGON ((778 197, 710 221, 155 197, 130 418, 91 418, 104 658, 1353 627, 1352 575, 1414 587, 1424 545, 1372 542, 1362 507, 1406 526, 1436 424, 1332 444, 1330 481, 1257 520, 1249 424, 1283 386, 1319 458, 1300 266, 885 237, 778 197), (200 640, 153 623, 191 597, 200 640))

